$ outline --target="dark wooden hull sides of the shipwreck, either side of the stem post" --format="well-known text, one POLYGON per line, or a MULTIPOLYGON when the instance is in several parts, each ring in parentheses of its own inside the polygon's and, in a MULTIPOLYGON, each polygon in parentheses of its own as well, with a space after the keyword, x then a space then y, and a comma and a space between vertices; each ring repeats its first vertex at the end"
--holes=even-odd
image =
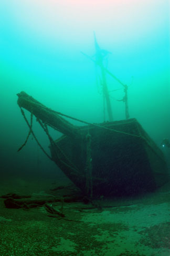
MULTIPOLYGON (((162 151, 136 119, 84 126, 81 127, 81 133, 89 133, 91 136, 93 197, 150 192, 168 181, 162 151), (103 126, 109 129, 103 129, 103 126)), ((52 160, 87 194, 86 142, 75 144, 70 138, 63 136, 55 140, 55 145, 56 150, 50 147, 52 160)))

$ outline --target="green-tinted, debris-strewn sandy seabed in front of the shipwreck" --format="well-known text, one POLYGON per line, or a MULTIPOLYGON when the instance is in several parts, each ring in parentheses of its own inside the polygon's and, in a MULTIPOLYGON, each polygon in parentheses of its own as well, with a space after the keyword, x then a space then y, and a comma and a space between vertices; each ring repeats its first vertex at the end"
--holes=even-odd
MULTIPOLYGON (((52 185, 51 185, 52 184, 52 185)), ((66 185, 66 184, 64 184, 66 185)), ((50 179, 1 181, 1 195, 48 193, 50 179)), ((61 202, 54 203, 61 208, 61 202)), ((63 203, 65 218, 50 218, 44 206, 7 209, 0 200, 2 256, 169 256, 170 185, 138 198, 103 200, 100 209, 63 203), (112 206, 112 207, 111 207, 112 206)))

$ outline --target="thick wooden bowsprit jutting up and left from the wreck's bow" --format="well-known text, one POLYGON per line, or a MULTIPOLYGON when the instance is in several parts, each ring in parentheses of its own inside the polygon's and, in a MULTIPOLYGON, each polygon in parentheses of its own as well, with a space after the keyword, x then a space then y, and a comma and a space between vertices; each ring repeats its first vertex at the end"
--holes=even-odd
POLYGON ((17 96, 17 103, 19 107, 25 108, 37 119, 40 119, 45 124, 53 127, 54 129, 69 137, 75 138, 75 136, 80 136, 79 128, 73 126, 70 124, 70 122, 60 117, 56 111, 42 105, 39 101, 26 94, 24 91, 17 94, 17 96))

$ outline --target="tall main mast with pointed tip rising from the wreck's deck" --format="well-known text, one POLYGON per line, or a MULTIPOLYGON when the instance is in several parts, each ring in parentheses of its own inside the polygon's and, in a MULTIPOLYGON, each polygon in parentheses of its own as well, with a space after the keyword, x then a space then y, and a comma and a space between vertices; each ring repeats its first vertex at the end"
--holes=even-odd
POLYGON ((107 105, 109 121, 113 121, 113 114, 112 114, 112 108, 111 108, 111 103, 110 103, 109 91, 108 91, 108 86, 107 86, 107 80, 105 77, 105 68, 103 66, 103 58, 105 57, 105 53, 107 51, 100 49, 100 47, 97 43, 96 37, 95 37, 95 33, 94 33, 94 44, 95 44, 95 50, 96 50, 95 63, 100 67, 101 76, 102 76, 103 100, 105 101, 105 103, 107 105))

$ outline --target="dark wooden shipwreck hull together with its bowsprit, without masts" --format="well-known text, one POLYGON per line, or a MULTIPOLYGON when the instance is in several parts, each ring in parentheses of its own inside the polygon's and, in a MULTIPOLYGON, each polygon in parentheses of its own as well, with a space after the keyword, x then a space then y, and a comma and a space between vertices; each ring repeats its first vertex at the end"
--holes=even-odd
POLYGON ((135 118, 73 126, 24 92, 18 105, 62 132, 50 141, 51 159, 89 197, 154 191, 168 180, 162 151, 135 118))

